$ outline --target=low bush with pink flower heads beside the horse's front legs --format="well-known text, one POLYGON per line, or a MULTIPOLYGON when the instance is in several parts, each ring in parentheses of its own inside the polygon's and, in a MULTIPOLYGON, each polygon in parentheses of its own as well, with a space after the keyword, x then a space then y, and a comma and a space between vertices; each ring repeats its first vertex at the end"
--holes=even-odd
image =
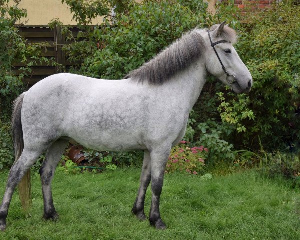
POLYGON ((186 141, 181 141, 172 148, 166 164, 166 173, 181 171, 197 175, 203 169, 208 149, 203 146, 191 147, 186 143, 186 141))

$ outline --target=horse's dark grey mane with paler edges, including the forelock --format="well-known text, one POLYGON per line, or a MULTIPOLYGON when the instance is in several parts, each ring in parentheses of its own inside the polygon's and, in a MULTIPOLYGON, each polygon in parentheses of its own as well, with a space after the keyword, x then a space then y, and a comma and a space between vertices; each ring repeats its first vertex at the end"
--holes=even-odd
MULTIPOLYGON (((218 25, 213 25, 210 30, 215 30, 218 25)), ((140 68, 131 71, 124 78, 132 78, 138 82, 148 82, 152 85, 159 85, 168 81, 202 56, 205 50, 205 43, 201 33, 204 31, 206 29, 195 28, 184 34, 164 51, 140 68)), ((234 43, 236 41, 236 32, 232 28, 225 26, 221 37, 234 43)))

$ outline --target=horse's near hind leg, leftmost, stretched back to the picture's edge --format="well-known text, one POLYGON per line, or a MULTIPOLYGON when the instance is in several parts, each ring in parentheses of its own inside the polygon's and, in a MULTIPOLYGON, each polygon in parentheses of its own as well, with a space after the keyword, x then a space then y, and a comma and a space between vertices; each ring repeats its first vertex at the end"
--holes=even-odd
POLYGON ((36 162, 41 153, 42 151, 33 151, 24 148, 20 158, 11 167, 2 205, 0 206, 0 230, 4 230, 6 228, 8 208, 16 185, 23 178, 30 167, 36 162))

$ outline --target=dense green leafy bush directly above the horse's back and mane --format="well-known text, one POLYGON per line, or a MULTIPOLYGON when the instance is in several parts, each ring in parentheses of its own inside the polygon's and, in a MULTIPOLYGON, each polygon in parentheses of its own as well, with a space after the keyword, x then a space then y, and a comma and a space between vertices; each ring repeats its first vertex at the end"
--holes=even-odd
MULTIPOLYGON (((94 2, 106 4, 103 0, 94 2)), ((144 1, 140 4, 131 1, 114 16, 106 15, 104 22, 92 29, 84 24, 86 19, 94 15, 86 12, 87 16, 82 17, 79 12, 85 11, 93 3, 80 7, 74 7, 72 1, 66 3, 85 31, 79 35, 85 36, 84 41, 76 41, 65 47, 73 61, 82 60, 84 56, 84 62, 71 71, 96 78, 120 79, 179 38, 183 32, 197 25, 207 26, 207 3, 202 0, 192 4, 180 4, 174 0, 144 1), (197 13, 192 10, 197 10, 197 13)), ((104 12, 101 14, 105 15, 104 12)))

